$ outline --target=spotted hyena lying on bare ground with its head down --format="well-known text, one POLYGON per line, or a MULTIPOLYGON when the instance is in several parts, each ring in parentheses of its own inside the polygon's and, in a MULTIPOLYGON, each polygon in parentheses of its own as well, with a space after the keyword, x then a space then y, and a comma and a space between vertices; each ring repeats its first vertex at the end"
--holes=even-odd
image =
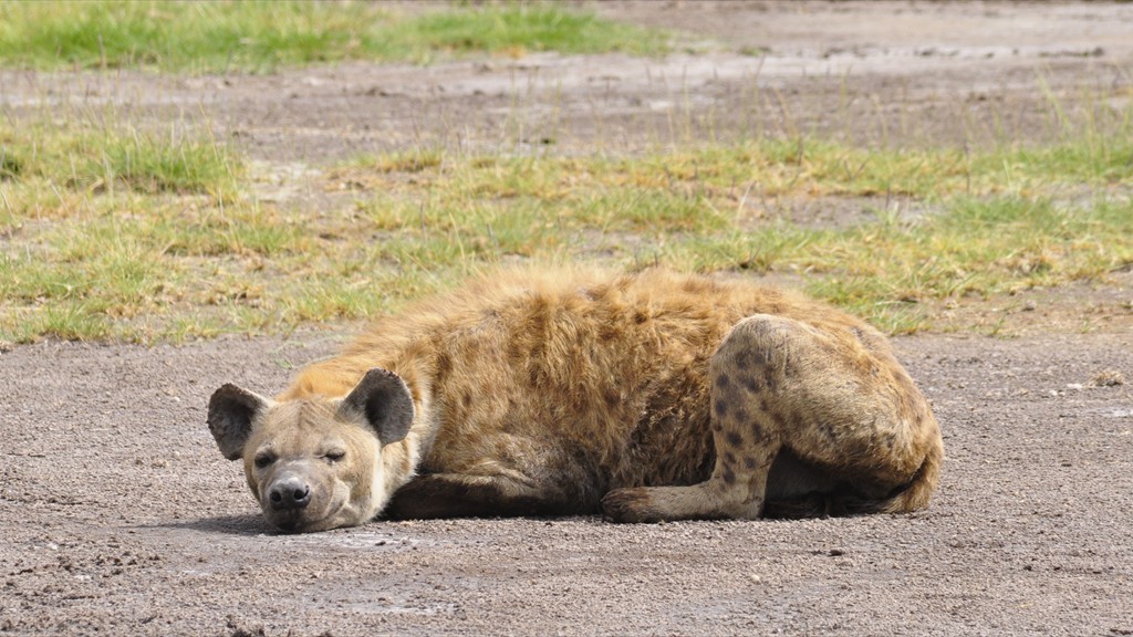
POLYGON ((276 398, 208 404, 267 520, 614 521, 925 507, 940 432, 886 339, 782 290, 513 272, 378 321, 276 398))

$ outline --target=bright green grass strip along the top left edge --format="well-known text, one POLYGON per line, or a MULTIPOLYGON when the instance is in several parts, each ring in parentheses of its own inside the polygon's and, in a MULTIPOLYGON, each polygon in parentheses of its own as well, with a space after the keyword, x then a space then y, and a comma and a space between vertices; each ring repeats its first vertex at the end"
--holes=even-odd
POLYGON ((369 2, 0 3, 0 65, 272 71, 343 60, 429 62, 531 51, 658 54, 659 32, 555 3, 407 15, 369 2))

